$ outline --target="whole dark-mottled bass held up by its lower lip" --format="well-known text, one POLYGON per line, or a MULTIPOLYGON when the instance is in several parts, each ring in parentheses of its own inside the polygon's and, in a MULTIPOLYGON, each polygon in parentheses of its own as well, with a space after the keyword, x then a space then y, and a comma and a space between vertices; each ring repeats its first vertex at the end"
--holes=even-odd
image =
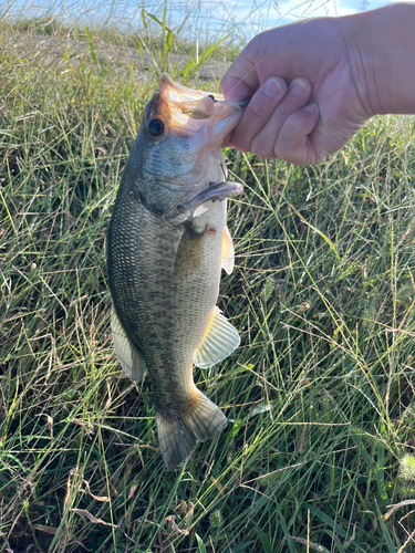
POLYGON ((108 226, 113 346, 129 378, 151 377, 168 470, 227 426, 193 366, 216 365, 240 344, 216 303, 221 269, 230 274, 235 263, 227 198, 242 192, 227 180, 220 144, 243 107, 162 74, 108 226))

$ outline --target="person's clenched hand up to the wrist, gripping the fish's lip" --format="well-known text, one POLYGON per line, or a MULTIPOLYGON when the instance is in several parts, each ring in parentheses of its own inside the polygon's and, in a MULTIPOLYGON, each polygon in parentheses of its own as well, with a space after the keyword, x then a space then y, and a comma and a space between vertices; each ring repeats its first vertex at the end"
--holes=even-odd
POLYGON ((227 100, 253 94, 224 145, 298 165, 324 161, 375 113, 359 54, 353 17, 257 35, 220 83, 227 100))

